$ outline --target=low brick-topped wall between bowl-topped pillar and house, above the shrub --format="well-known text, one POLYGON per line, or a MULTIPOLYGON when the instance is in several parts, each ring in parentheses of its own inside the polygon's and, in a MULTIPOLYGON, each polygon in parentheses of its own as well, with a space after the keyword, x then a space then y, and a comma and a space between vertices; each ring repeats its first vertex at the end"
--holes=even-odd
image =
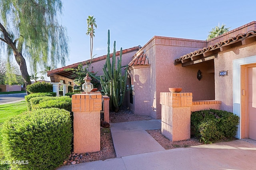
POLYGON ((193 101, 191 112, 199 111, 199 110, 208 110, 208 109, 221 109, 221 101, 217 100, 200 100, 200 101, 193 101))

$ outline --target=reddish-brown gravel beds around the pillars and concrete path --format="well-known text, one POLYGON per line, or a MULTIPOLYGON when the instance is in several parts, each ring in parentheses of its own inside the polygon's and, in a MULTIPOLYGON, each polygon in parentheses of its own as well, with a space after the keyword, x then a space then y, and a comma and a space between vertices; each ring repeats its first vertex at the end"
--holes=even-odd
MULTIPOLYGON (((132 114, 132 112, 126 108, 121 108, 118 113, 110 112, 110 122, 130 122, 139 120, 152 120, 150 116, 138 116, 132 114)), ((146 130, 160 145, 166 150, 173 148, 182 148, 188 146, 201 145, 197 139, 191 138, 188 140, 182 140, 178 142, 172 142, 164 135, 161 134, 161 129, 146 130)), ((74 153, 70 154, 69 159, 63 164, 78 164, 83 162, 91 162, 96 160, 106 160, 110 158, 116 158, 116 152, 114 150, 114 144, 110 132, 110 128, 100 128, 100 151, 88 152, 88 153, 74 153)))

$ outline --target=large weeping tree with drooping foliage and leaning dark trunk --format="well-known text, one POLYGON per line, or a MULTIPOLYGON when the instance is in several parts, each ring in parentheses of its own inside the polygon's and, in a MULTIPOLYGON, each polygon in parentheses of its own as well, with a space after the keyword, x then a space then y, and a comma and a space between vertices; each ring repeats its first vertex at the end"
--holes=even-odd
POLYGON ((25 58, 32 67, 49 62, 65 65, 66 28, 58 24, 61 0, 0 0, 0 42, 14 54, 25 86, 31 84, 25 58))

